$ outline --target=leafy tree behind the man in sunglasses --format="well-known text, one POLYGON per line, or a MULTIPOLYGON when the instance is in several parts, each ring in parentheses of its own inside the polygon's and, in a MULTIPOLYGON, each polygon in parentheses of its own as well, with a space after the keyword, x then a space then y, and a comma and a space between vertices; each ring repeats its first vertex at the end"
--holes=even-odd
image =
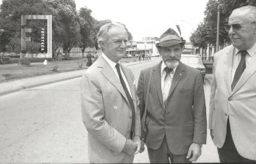
POLYGON ((224 26, 228 22, 228 17, 232 13, 232 11, 241 6, 252 5, 256 6, 255 0, 237 0, 237 1, 228 1, 228 0, 209 0, 205 8, 205 18, 204 28, 202 28, 202 24, 198 26, 196 31, 191 34, 190 40, 196 47, 199 46, 203 48, 205 43, 210 43, 216 45, 216 33, 217 33, 217 10, 218 5, 220 5, 220 45, 224 45, 224 43, 230 43, 230 39, 228 37, 227 31, 225 31, 224 26), (201 27, 200 27, 201 26, 201 27), (204 33, 204 35, 200 35, 200 33, 204 33), (198 38, 199 37, 199 38, 198 38), (204 37, 204 38, 200 38, 204 37))

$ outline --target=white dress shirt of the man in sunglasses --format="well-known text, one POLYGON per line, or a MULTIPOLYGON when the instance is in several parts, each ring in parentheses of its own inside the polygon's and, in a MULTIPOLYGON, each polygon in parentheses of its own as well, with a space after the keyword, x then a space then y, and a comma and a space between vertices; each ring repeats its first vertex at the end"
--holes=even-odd
MULTIPOLYGON (((256 55, 256 43, 254 43, 254 45, 246 51, 248 52, 248 54, 245 57, 245 64, 246 64, 246 68, 248 68, 250 67, 250 64, 253 64, 253 63, 250 63, 252 57, 256 55)), ((241 53, 237 48, 235 48, 234 54, 233 54, 233 61, 232 61, 231 84, 234 80, 236 68, 239 65, 240 61, 241 61, 241 53)))

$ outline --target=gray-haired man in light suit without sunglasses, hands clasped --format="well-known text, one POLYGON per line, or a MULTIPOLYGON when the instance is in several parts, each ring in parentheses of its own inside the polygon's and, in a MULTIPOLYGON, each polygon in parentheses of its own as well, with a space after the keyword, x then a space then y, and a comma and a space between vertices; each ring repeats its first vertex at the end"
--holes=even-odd
POLYGON ((120 64, 127 32, 122 24, 100 27, 102 56, 81 80, 81 110, 88 130, 90 163, 132 163, 140 150, 140 110, 131 70, 120 64))

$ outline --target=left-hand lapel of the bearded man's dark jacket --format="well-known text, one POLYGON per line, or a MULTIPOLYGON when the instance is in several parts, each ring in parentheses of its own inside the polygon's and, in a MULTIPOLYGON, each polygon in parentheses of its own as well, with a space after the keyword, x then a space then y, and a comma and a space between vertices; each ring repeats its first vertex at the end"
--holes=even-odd
POLYGON ((161 63, 153 67, 152 78, 153 78, 154 84, 156 85, 158 98, 159 98, 159 101, 161 102, 161 107, 164 108, 163 94, 161 89, 161 63))

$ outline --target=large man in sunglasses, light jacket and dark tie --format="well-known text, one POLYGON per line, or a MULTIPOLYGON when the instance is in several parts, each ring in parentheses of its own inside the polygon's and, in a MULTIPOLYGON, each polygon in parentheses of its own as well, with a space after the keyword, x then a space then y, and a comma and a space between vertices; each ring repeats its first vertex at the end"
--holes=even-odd
POLYGON ((256 162, 256 7, 232 11, 214 55, 209 128, 221 162, 256 162))

